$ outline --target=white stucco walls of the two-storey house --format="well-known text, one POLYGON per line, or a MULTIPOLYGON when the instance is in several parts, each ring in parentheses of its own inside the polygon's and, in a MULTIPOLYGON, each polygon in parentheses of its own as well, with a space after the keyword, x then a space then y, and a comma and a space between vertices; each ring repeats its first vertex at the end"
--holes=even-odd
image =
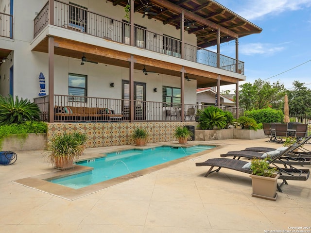
MULTIPOLYGON (((7 0, 9 1, 9 0, 7 0)), ((0 6, 4 1, 1 1, 0 6)), ((69 2, 69 1, 67 1, 69 2)), ((72 2, 85 6, 89 11, 110 16, 112 18, 124 19, 124 8, 121 6, 113 6, 111 2, 98 0, 72 0, 72 2)), ((14 2, 14 95, 19 97, 33 98, 38 97, 40 92, 38 76, 40 72, 45 76, 46 93, 48 94, 48 54, 42 52, 31 51, 31 42, 33 41, 33 28, 35 12, 39 12, 45 5, 46 1, 42 0, 16 0, 14 2), (25 10, 28 9, 28 10, 25 10)), ((8 7, 6 7, 8 8, 8 7)), ((8 9, 6 9, 8 11, 8 9)), ((163 25, 155 19, 142 18, 142 15, 135 13, 135 21, 147 30, 155 33, 165 33, 173 37, 180 37, 180 30, 176 30, 170 25, 163 25)), ((194 35, 186 33, 187 43, 196 43, 194 35)), ((172 58, 173 59, 173 58, 172 58)), ((87 75, 87 93, 91 97, 107 97, 121 99, 121 81, 129 80, 128 68, 116 67, 105 64, 86 63, 80 65, 80 59, 62 57, 55 55, 54 57, 54 93, 68 95, 68 74, 84 74, 87 75), (111 88, 109 83, 115 83, 115 87, 111 88)), ((13 64, 6 62, 0 68, 0 94, 7 95, 9 93, 9 68, 13 64), (4 80, 4 73, 6 79, 4 80)), ((149 73, 144 75, 141 70, 135 70, 135 81, 146 84, 146 98, 149 101, 162 101, 162 86, 180 87, 180 78, 168 75, 149 73), (157 88, 157 92, 153 89, 157 88)), ((196 102, 196 81, 185 82, 185 102, 196 102)))

